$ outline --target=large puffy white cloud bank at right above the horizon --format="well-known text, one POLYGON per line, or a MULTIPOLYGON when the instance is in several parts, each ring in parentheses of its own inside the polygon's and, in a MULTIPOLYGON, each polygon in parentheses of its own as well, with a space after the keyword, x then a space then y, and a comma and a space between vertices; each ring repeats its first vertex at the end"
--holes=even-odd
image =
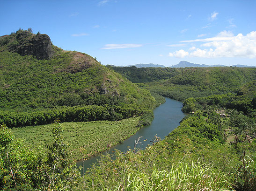
POLYGON ((169 53, 169 56, 175 56, 177 58, 183 58, 185 56, 190 57, 204 57, 204 58, 217 58, 217 57, 246 57, 256 58, 256 31, 252 31, 249 34, 234 34, 230 31, 222 31, 218 35, 212 38, 195 39, 189 41, 180 42, 204 42, 200 44, 200 47, 195 46, 185 51, 183 49, 176 50, 173 53, 169 53))

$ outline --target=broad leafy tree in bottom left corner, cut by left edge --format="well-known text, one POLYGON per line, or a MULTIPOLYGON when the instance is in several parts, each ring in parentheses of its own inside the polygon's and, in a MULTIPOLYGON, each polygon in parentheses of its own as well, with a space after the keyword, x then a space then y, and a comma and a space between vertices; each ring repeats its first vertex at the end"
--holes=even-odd
POLYGON ((27 190, 37 187, 38 157, 5 125, 0 126, 0 190, 27 190))

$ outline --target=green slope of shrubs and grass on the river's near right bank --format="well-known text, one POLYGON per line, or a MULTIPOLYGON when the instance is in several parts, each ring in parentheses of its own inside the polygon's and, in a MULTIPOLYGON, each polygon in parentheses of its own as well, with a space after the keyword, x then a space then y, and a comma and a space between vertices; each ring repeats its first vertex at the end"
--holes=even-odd
POLYGON ((216 108, 205 104, 164 140, 155 137, 146 150, 117 151, 116 159, 102 156, 99 166, 84 176, 86 189, 254 191, 255 116, 222 108, 226 116, 221 117, 216 108), (233 144, 225 144, 232 134, 233 144))

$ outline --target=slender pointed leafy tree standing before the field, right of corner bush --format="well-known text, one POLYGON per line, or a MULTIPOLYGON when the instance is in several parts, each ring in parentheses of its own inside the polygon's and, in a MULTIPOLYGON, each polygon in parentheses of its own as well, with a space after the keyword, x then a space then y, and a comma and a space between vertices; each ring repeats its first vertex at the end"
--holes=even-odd
POLYGON ((69 160, 70 152, 67 144, 64 143, 62 132, 62 127, 56 120, 52 130, 53 143, 47 146, 50 153, 43 164, 43 185, 53 190, 70 191, 77 184, 80 172, 75 162, 69 160))

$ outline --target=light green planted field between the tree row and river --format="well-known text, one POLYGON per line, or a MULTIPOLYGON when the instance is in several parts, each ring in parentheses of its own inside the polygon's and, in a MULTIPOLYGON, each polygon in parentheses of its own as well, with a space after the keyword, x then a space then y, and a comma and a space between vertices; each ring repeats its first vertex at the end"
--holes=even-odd
MULTIPOLYGON (((64 140, 69 144, 72 158, 79 160, 96 155, 121 143, 139 130, 139 117, 132 117, 121 121, 96 122, 70 122, 61 123, 64 140)), ((51 130, 54 124, 13 128, 16 137, 37 148, 39 144, 45 145, 52 140, 51 130)), ((46 152, 46 149, 43 149, 46 152)))

